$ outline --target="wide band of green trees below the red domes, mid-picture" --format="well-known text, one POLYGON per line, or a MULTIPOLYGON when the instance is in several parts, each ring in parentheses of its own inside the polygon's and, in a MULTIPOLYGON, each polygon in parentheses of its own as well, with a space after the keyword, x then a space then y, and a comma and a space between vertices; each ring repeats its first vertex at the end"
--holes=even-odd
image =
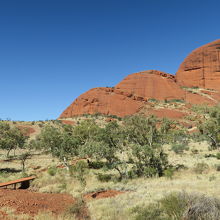
MULTIPOLYGON (((88 168, 115 170, 118 180, 160 177, 169 165, 162 145, 187 140, 184 131, 177 133, 173 127, 172 121, 156 117, 130 116, 120 124, 111 121, 102 127, 95 120, 87 119, 74 127, 45 126, 37 140, 29 145, 51 153, 66 167, 73 157, 88 158, 86 167, 78 163, 76 167, 70 167, 70 172, 82 184, 85 184, 83 176, 88 168)), ((102 181, 108 177, 98 178, 102 181)))

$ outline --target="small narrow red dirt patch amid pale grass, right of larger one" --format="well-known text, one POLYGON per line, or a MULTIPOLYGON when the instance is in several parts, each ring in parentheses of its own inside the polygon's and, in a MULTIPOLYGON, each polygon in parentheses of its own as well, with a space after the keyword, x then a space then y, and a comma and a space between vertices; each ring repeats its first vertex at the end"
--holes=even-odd
POLYGON ((103 199, 103 198, 115 197, 123 193, 125 192, 117 191, 117 190, 105 190, 105 191, 88 193, 84 196, 84 198, 88 200, 89 199, 103 199))

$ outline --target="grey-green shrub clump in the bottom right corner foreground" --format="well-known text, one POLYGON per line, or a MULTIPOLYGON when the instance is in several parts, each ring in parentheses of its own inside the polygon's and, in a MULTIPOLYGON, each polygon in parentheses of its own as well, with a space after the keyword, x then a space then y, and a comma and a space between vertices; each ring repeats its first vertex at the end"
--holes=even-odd
POLYGON ((219 220, 220 200, 200 194, 173 192, 147 206, 131 210, 135 220, 219 220))

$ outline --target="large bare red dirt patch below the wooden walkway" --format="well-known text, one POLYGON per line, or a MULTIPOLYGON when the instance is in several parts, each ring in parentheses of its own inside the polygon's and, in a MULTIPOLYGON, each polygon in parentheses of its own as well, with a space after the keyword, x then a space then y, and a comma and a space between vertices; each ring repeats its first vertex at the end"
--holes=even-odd
MULTIPOLYGON (((64 212, 74 199, 67 194, 36 193, 28 190, 0 189, 0 208, 11 207, 16 213, 35 215, 39 211, 64 212)), ((4 213, 0 212, 0 219, 4 213)))

